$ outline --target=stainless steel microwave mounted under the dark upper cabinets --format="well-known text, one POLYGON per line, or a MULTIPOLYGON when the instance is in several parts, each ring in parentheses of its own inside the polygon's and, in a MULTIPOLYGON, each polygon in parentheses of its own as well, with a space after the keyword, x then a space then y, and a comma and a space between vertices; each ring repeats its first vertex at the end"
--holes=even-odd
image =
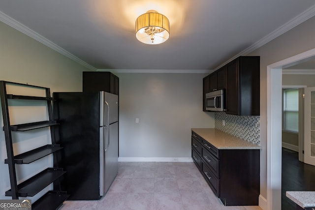
POLYGON ((216 90, 212 92, 206 93, 206 110, 207 111, 214 111, 214 112, 223 112, 223 101, 224 101, 224 91, 223 90, 216 90))

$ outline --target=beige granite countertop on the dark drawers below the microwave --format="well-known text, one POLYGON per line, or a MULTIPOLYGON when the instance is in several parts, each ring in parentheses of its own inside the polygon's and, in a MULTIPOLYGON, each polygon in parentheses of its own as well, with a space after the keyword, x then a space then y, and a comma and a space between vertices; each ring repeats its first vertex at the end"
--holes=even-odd
POLYGON ((219 150, 260 150, 261 147, 215 128, 191 128, 219 150))

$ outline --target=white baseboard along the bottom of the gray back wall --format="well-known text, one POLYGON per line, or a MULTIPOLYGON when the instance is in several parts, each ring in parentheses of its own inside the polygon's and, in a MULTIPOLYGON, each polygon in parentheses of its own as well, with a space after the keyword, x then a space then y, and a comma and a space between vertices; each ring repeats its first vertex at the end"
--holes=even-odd
POLYGON ((192 162, 191 157, 119 157, 118 162, 192 162))

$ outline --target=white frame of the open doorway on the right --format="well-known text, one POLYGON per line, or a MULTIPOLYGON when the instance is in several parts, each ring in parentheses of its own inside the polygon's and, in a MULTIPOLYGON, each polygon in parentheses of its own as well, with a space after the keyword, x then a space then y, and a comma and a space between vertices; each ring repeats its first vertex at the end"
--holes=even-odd
POLYGON ((267 209, 281 209, 282 69, 315 58, 315 48, 267 66, 267 209), (275 141, 273 141, 275 140, 275 141))

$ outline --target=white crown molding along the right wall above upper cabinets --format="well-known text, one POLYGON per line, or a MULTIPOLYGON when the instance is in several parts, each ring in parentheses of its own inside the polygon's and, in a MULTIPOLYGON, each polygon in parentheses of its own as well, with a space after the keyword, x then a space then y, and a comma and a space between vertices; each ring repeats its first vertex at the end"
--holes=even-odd
POLYGON ((229 59, 226 62, 222 63, 220 66, 218 66, 215 69, 217 70, 217 69, 221 68, 222 66, 224 66, 225 64, 229 63, 230 61, 232 61, 232 60, 234 60, 234 59, 236 59, 236 58, 238 58, 240 56, 245 56, 245 55, 251 53, 252 51, 258 49, 259 47, 267 44, 271 40, 273 40, 273 39, 277 38, 278 36, 284 34, 288 30, 291 30, 294 27, 298 26, 299 24, 303 23, 304 21, 312 18, 314 15, 315 15, 315 5, 311 6, 310 8, 305 10, 304 12, 300 13, 299 15, 297 15, 295 18, 293 18, 290 21, 286 22, 284 25, 282 25, 278 29, 276 29, 276 30, 272 31, 271 33, 267 34, 262 39, 258 40, 257 42, 252 44, 250 47, 246 48, 245 50, 243 50, 242 52, 238 53, 237 55, 235 55, 231 59, 229 59))

